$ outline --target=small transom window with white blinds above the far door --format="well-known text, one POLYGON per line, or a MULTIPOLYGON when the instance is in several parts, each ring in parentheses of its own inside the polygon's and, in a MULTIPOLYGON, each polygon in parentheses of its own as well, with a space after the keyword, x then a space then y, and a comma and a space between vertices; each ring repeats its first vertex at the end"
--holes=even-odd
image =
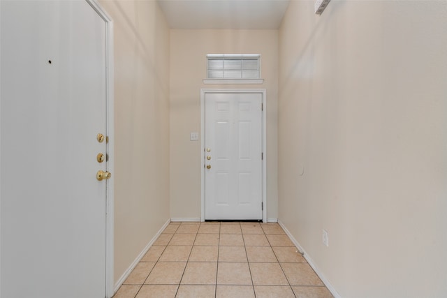
POLYGON ((259 79, 259 54, 207 54, 208 79, 259 79))

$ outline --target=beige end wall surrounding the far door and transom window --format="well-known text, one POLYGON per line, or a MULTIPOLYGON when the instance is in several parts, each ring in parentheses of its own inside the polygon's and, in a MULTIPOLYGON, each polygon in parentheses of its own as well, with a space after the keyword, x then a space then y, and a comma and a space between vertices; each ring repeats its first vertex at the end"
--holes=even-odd
POLYGON ((277 30, 170 31, 170 215, 200 218, 200 89, 267 90, 268 218, 277 218, 277 30), (264 84, 210 85, 206 54, 261 54, 264 84))

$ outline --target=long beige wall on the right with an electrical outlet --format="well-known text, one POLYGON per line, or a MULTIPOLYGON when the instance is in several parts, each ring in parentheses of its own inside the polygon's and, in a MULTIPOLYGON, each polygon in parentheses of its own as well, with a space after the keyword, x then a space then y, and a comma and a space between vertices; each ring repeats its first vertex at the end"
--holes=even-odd
POLYGON ((447 2, 313 6, 279 36, 279 220, 341 297, 446 297, 447 2))

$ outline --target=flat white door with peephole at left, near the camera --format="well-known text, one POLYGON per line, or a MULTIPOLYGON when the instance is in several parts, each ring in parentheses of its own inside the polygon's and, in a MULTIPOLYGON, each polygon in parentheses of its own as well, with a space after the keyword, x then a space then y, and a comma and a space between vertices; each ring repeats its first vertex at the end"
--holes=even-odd
POLYGON ((0 5, 0 296, 105 297, 105 21, 85 1, 0 5))

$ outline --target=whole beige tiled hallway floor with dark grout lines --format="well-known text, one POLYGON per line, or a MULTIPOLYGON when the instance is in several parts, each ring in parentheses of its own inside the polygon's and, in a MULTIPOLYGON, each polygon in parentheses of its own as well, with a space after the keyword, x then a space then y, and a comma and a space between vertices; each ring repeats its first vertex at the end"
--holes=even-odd
POLYGON ((114 298, 332 297, 277 223, 170 223, 114 298))

